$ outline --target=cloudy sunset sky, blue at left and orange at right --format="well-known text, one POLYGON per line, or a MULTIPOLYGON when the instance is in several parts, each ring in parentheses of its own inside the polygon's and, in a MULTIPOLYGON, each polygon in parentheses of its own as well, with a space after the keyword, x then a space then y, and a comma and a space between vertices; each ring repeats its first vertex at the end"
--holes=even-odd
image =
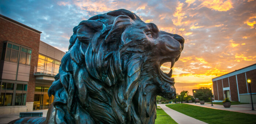
MULTIPOLYGON (((256 0, 0 1, 1 15, 41 31, 42 41, 62 51, 80 21, 116 9, 184 37, 173 67, 177 93, 192 95, 192 89, 212 87, 212 78, 256 63, 256 0)), ((167 73, 169 68, 161 67, 167 73)))

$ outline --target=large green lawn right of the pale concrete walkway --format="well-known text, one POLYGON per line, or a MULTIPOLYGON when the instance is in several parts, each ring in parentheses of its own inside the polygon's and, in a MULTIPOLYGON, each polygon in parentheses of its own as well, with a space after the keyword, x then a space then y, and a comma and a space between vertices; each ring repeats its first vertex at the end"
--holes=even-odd
POLYGON ((256 115, 204 108, 188 104, 169 104, 167 107, 209 124, 256 124, 256 115))

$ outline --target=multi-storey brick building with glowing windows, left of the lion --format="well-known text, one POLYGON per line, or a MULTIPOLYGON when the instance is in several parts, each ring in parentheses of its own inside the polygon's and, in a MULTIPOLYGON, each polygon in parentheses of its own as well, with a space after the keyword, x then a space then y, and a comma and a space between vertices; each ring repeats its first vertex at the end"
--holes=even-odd
POLYGON ((0 115, 47 109, 47 91, 65 52, 40 41, 42 32, 0 15, 0 115))

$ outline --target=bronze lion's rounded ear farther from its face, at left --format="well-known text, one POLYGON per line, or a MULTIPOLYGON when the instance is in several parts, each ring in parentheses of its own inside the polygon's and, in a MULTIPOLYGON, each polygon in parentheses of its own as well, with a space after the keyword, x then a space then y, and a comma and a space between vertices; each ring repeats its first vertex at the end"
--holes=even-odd
POLYGON ((94 20, 81 21, 77 27, 76 35, 78 40, 84 44, 89 44, 96 32, 101 31, 102 23, 94 20))

